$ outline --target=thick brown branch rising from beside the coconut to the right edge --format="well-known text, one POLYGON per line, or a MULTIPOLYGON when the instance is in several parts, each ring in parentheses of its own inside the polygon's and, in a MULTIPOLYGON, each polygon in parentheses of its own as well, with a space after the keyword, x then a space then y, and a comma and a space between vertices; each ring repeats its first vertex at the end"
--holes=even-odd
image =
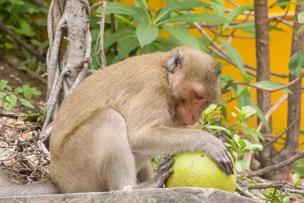
POLYGON ((280 163, 277 163, 275 165, 267 166, 267 167, 261 168, 260 170, 253 171, 253 172, 241 172, 238 175, 245 176, 247 174, 248 178, 255 177, 255 176, 262 176, 265 173, 270 173, 270 172, 278 170, 279 168, 285 167, 286 165, 289 165, 290 163, 292 163, 300 158, 303 158, 303 157, 304 157, 304 150, 300 151, 298 154, 296 154, 280 163))

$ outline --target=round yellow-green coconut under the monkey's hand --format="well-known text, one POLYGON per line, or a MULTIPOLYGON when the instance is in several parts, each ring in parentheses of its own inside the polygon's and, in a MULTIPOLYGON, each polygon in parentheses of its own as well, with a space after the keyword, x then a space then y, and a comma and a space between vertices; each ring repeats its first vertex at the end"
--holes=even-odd
POLYGON ((212 187, 228 192, 236 190, 236 167, 234 175, 227 175, 203 152, 187 152, 174 155, 173 158, 174 172, 167 178, 165 187, 212 187))

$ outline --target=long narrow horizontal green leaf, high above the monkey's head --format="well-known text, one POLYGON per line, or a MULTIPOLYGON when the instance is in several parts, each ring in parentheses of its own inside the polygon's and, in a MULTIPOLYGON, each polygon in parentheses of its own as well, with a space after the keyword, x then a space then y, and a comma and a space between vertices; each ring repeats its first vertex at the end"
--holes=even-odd
POLYGON ((171 22, 213 22, 213 23, 231 23, 225 17, 216 14, 187 14, 169 18, 159 22, 158 24, 171 22))

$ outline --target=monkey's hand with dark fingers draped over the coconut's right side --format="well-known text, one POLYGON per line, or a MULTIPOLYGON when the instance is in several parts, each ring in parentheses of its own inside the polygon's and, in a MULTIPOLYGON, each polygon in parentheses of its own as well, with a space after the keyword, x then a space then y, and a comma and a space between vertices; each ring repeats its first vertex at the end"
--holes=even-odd
MULTIPOLYGON (((213 137, 213 136, 212 136, 213 137)), ((212 139, 213 147, 208 147, 205 153, 216 163, 222 171, 226 172, 228 175, 234 174, 234 164, 232 163, 232 157, 228 152, 228 148, 223 144, 221 140, 216 137, 212 139)))

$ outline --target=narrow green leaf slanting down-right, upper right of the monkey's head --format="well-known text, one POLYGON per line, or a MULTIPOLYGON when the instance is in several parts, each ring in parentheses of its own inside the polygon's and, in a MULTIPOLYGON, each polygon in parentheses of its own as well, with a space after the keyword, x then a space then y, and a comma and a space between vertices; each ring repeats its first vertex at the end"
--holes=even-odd
POLYGON ((246 75, 246 70, 244 66, 243 59, 241 58, 238 51, 228 42, 223 39, 219 39, 220 43, 226 50, 227 54, 230 56, 231 60, 237 65, 242 75, 246 75))

